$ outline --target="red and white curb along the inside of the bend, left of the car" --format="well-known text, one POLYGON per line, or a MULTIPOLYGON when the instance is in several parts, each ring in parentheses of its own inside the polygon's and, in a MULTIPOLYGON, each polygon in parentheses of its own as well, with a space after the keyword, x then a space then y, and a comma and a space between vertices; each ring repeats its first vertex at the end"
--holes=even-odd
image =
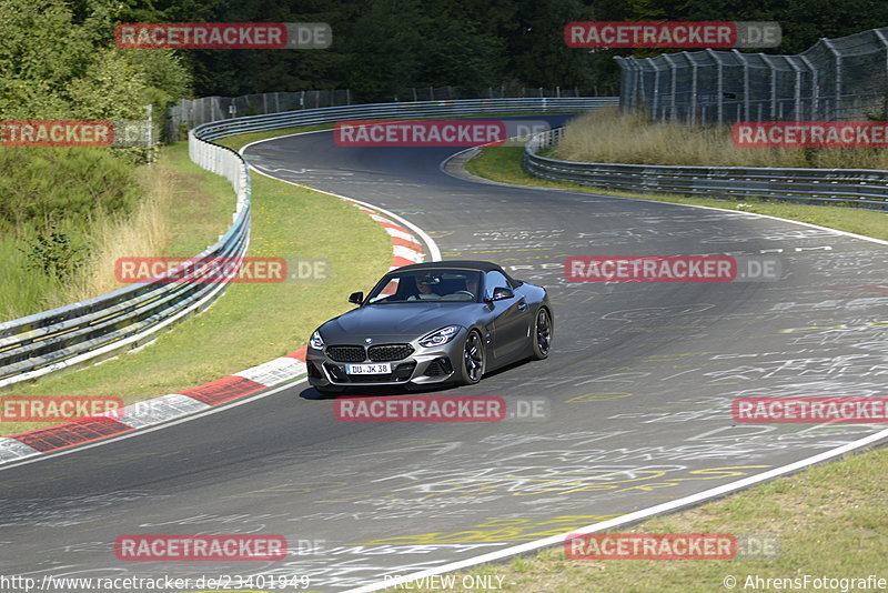
MULTIPOLYGON (((440 259, 437 245, 434 244, 431 238, 425 235, 422 229, 391 212, 375 209, 370 204, 343 195, 336 195, 336 198, 351 202, 382 224, 389 233, 392 239, 392 263, 390 270, 425 261, 425 249, 421 240, 416 238, 416 234, 423 235, 423 240, 426 241, 433 258, 440 259)), ((10 436, 0 436, 0 465, 170 422, 281 385, 300 379, 305 374, 305 346, 302 346, 285 356, 180 393, 144 400, 98 416, 74 420, 64 424, 37 429, 10 436)))

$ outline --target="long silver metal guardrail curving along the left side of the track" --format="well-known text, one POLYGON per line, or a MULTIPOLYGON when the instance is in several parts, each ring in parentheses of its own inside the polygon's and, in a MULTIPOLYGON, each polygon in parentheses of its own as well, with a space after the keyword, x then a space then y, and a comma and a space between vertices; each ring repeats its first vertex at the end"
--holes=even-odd
MULTIPOLYGON (((577 112, 616 102, 616 98, 533 98, 374 103, 306 109, 199 125, 189 132, 189 155, 200 167, 231 182, 238 205, 228 231, 193 259, 240 258, 246 253, 250 242, 250 170, 240 154, 212 143, 213 139, 347 119, 577 112)), ((192 280, 192 277, 185 278, 192 280)), ((0 323, 0 388, 141 346, 155 339, 161 330, 206 309, 225 287, 225 283, 145 282, 0 323)))

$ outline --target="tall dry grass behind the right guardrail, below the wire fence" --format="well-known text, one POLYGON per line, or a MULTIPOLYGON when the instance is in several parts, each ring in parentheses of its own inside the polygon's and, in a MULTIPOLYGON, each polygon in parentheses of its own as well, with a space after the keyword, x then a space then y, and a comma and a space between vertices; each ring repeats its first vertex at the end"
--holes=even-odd
POLYGON ((643 113, 617 109, 573 120, 554 155, 584 162, 888 169, 886 149, 737 148, 730 127, 653 123, 643 113))

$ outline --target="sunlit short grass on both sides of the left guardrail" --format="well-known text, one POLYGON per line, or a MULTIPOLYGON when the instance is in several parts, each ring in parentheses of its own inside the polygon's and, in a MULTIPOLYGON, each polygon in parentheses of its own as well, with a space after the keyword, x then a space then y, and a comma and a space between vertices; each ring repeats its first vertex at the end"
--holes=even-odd
MULTIPOLYGON (((278 132, 280 133, 280 132, 278 132)), ((165 149, 162 167, 174 174, 174 254, 192 255, 208 242, 191 229, 218 234, 231 221, 228 182, 188 160, 183 144, 165 149), (215 220, 222 215, 224 222, 215 220)), ((159 164, 158 167, 161 167, 159 164)), ((215 237, 213 237, 215 239, 215 237)), ((323 321, 350 308, 346 296, 367 290, 389 269, 389 235, 354 207, 264 175, 253 175, 253 221, 249 255, 323 260, 323 280, 232 284, 208 311, 147 348, 102 364, 18 385, 21 395, 119 395, 125 403, 174 393, 292 352, 323 321)), ((170 253, 173 254, 173 253, 170 253)), ((4 423, 0 434, 46 424, 4 423)))

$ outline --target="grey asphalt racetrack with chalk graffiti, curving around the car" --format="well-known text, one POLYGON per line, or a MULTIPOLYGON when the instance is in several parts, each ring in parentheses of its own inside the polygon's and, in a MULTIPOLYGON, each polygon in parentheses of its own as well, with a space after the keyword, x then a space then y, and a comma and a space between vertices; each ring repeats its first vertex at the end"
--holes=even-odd
POLYGON ((491 259, 548 287, 552 356, 446 392, 543 398, 547 419, 343 423, 304 384, 278 389, 0 470, 0 573, 297 574, 312 589, 345 590, 567 533, 877 432, 736 425, 729 409, 740 395, 884 394, 884 244, 729 211, 472 183, 440 170, 453 152, 346 149, 323 132, 245 155, 261 172, 404 217, 445 258, 491 259), (771 254, 784 278, 563 280, 569 255, 690 253, 771 254), (294 550, 271 563, 122 563, 110 545, 129 533, 282 534, 294 550))

